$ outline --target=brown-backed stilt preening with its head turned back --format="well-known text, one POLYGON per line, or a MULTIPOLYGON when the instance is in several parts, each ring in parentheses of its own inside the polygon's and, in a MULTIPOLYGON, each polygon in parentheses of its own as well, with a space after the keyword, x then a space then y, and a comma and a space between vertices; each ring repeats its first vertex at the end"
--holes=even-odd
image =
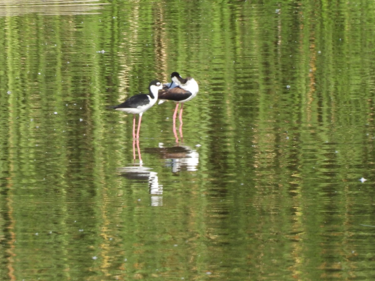
MULTIPOLYGON (((159 104, 165 100, 173 100, 176 103, 176 108, 173 113, 173 132, 176 132, 176 117, 178 105, 181 103, 180 114, 180 135, 182 138, 182 111, 185 102, 188 102, 198 93, 198 83, 192 77, 182 78, 177 72, 171 74, 172 82, 163 85, 163 90, 159 91, 159 104)), ((177 136, 177 133, 175 133, 177 136)), ((178 138, 176 137, 176 142, 178 138)))

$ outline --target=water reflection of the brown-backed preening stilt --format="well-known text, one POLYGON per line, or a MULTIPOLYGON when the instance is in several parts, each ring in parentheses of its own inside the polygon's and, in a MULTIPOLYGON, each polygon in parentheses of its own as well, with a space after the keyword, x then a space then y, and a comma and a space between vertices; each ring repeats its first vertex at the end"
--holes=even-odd
POLYGON ((166 159, 165 166, 171 167, 173 173, 196 171, 199 163, 199 153, 189 146, 164 147, 163 143, 159 143, 159 147, 146 148, 145 152, 159 154, 160 158, 166 159))

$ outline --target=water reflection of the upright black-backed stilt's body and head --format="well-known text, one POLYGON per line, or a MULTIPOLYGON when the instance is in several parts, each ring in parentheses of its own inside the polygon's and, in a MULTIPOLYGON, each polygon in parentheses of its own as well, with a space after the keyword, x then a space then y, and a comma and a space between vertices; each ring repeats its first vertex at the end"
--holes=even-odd
POLYGON ((151 171, 150 167, 143 167, 142 164, 122 167, 118 169, 121 176, 127 179, 137 181, 147 181, 148 188, 151 194, 151 206, 163 205, 163 185, 159 184, 159 178, 156 172, 151 171))

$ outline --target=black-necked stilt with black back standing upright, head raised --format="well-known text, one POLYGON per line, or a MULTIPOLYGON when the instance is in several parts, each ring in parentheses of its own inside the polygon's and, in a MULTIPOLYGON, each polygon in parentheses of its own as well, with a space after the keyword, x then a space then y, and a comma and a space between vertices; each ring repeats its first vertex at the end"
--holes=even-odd
POLYGON ((154 80, 148 85, 148 94, 138 94, 129 97, 123 103, 115 106, 110 106, 119 111, 125 111, 127 113, 133 114, 133 138, 139 139, 139 129, 141 127, 142 114, 151 106, 153 106, 158 97, 158 91, 163 88, 162 83, 159 80, 154 80), (135 135, 135 114, 139 114, 138 129, 135 135))

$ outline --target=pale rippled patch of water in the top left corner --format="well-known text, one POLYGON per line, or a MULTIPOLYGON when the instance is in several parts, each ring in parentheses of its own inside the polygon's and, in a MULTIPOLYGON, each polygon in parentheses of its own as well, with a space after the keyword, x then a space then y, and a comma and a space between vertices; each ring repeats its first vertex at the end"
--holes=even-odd
POLYGON ((42 13, 43 15, 80 15, 98 14, 109 3, 98 3, 99 0, 6 0, 0 2, 0 16, 24 15, 26 13, 42 13))

